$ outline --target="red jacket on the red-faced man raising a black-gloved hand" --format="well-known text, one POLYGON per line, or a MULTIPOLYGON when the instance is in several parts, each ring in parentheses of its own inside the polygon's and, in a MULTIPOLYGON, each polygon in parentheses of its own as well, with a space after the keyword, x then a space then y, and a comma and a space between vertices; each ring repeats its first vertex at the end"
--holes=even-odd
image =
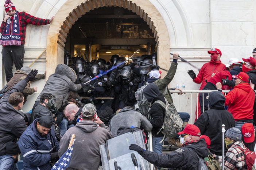
POLYGON ((200 69, 197 77, 193 80, 195 83, 202 83, 199 90, 202 90, 206 85, 205 80, 209 81, 213 73, 218 73, 222 70, 226 70, 225 64, 222 64, 221 61, 210 61, 205 63, 200 69))

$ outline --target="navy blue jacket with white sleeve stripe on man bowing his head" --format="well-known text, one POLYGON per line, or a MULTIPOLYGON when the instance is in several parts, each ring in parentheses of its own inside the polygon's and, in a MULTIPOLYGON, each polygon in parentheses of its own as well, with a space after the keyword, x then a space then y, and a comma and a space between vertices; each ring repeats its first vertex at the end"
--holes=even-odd
POLYGON ((36 130, 35 124, 37 120, 38 119, 35 119, 33 123, 28 126, 18 141, 20 152, 24 157, 24 170, 50 170, 50 153, 55 152, 55 149, 56 151, 59 150, 59 142, 54 135, 53 127, 49 133, 47 133, 46 137, 42 137, 36 130))

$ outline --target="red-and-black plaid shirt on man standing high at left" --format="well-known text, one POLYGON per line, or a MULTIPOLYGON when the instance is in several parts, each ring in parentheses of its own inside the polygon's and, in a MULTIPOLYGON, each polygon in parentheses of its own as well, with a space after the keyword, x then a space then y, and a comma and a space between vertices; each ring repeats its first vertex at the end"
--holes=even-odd
MULTIPOLYGON (((13 24, 13 17, 11 17, 12 24, 13 24)), ((26 12, 20 12, 19 13, 19 20, 20 20, 20 41, 22 44, 25 44, 25 39, 26 39, 26 27, 27 24, 32 24, 32 25, 47 25, 50 24, 50 20, 45 20, 41 18, 34 17, 32 15, 29 15, 26 12)), ((3 21, 0 27, 0 33, 3 32, 5 28, 6 23, 3 21)))

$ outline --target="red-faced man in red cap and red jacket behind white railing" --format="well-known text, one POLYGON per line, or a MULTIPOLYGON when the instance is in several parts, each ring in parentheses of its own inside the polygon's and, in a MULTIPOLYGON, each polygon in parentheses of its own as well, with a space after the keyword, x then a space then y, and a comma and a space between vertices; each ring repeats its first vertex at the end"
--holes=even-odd
MULTIPOLYGON (((208 51, 208 54, 211 54, 211 60, 210 62, 205 63, 202 68, 200 69, 197 76, 195 76, 195 72, 193 70, 189 70, 187 73, 189 73, 189 76, 193 79, 193 81, 197 84, 202 83, 199 90, 202 90, 204 86, 207 84, 207 81, 211 77, 213 77, 216 73, 226 70, 225 64, 221 63, 221 50, 217 48, 212 48, 210 51, 208 51)), ((199 97, 198 97, 199 99, 199 97)), ((201 115, 200 112, 200 104, 198 100, 198 117, 201 115)), ((197 110, 195 111, 195 121, 197 120, 197 110)))

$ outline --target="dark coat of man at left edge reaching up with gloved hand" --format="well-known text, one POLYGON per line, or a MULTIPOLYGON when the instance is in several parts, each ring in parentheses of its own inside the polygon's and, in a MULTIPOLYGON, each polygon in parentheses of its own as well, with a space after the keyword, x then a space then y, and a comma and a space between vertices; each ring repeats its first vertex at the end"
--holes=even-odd
POLYGON ((17 142, 17 139, 20 138, 20 135, 27 128, 24 114, 15 110, 8 102, 9 96, 13 92, 22 92, 26 86, 26 80, 18 82, 0 100, 0 156, 5 153, 6 142, 17 142))

